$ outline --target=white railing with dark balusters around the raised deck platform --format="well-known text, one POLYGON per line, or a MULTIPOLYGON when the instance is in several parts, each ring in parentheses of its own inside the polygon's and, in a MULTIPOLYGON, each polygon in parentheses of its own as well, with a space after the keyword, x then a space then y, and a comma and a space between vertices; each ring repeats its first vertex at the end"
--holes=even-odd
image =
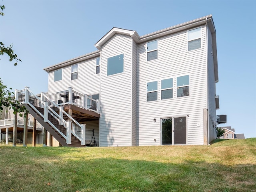
POLYGON ((69 87, 68 90, 65 91, 49 94, 47 97, 58 106, 72 104, 83 109, 100 113, 100 100, 92 99, 88 97, 88 95, 73 91, 72 87, 69 87))

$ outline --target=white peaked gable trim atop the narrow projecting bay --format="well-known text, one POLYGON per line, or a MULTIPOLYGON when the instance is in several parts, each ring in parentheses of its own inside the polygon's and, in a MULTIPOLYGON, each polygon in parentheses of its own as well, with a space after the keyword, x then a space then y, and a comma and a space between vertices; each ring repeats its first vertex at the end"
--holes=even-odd
POLYGON ((131 36, 135 42, 138 42, 140 38, 136 31, 114 27, 106 35, 104 35, 94 46, 100 50, 101 46, 104 45, 114 34, 124 34, 131 36))

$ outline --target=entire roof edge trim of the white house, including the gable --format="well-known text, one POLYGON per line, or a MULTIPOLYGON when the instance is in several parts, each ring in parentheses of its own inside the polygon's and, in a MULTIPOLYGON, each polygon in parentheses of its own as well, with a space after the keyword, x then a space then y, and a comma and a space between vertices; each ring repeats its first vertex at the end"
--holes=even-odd
POLYGON ((217 46, 216 46, 216 34, 215 34, 215 26, 214 22, 212 20, 212 15, 204 16, 202 18, 198 18, 195 20, 191 20, 189 22, 185 22, 182 24, 178 24, 176 26, 172 26, 163 30, 159 30, 144 36, 139 36, 136 31, 133 30, 126 30, 122 28, 112 28, 106 35, 104 35, 96 44, 94 45, 96 48, 98 48, 98 51, 94 51, 92 53, 88 53, 86 55, 82 55, 80 57, 76 57, 74 59, 70 59, 68 61, 64 61, 62 63, 58 63, 56 65, 52 65, 50 67, 44 68, 45 71, 53 71, 59 68, 62 68, 67 65, 71 65, 74 63, 78 63, 80 61, 90 59, 93 57, 99 57, 100 56, 100 49, 104 43, 106 43, 112 36, 115 34, 125 34, 130 36, 136 43, 143 43, 147 42, 153 39, 161 38, 163 36, 167 36, 170 34, 174 34, 177 32, 181 32, 184 30, 188 30, 190 28, 194 28, 200 25, 206 24, 208 28, 210 29, 212 33, 212 48, 213 48, 213 60, 214 60, 214 77, 215 77, 215 82, 218 82, 218 61, 217 61, 217 46))

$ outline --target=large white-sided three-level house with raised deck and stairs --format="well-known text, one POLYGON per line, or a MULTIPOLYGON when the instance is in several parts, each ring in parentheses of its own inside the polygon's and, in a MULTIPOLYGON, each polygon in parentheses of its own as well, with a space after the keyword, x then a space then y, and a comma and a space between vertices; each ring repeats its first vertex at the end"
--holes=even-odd
POLYGON ((143 36, 114 27, 94 46, 97 51, 44 69, 48 95, 41 100, 28 88, 16 92, 61 145, 207 145, 216 139, 211 15, 143 36))

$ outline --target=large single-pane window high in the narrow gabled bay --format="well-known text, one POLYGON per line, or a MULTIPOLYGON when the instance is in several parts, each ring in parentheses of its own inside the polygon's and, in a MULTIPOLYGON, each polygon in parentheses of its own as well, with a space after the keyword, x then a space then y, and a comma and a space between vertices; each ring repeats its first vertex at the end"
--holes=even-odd
POLYGON ((124 72, 124 54, 108 58, 108 75, 124 72))

